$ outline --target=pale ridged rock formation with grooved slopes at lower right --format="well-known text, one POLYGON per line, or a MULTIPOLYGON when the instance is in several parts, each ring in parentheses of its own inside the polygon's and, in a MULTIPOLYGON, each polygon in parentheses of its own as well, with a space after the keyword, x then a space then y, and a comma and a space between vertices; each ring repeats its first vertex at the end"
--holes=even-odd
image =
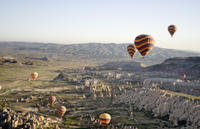
POLYGON ((192 129, 200 128, 200 100, 177 96, 153 88, 134 88, 116 97, 118 103, 133 104, 135 108, 151 111, 154 117, 192 129))

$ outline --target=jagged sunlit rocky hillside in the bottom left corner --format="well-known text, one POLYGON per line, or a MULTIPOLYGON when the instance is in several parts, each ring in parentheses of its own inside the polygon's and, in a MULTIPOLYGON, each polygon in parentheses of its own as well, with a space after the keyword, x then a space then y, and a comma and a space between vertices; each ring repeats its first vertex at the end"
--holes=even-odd
MULTIPOLYGON (((9 108, 5 108, 3 111, 0 111, 0 127, 3 129, 36 129, 37 127, 48 128, 50 123, 58 122, 60 121, 29 112, 15 112, 9 108)), ((55 126, 55 129, 59 129, 58 125, 55 126)))

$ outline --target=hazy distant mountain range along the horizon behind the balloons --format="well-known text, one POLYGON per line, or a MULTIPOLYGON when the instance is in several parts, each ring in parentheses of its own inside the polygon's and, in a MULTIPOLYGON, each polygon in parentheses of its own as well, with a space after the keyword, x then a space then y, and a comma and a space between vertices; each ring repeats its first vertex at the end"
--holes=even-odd
POLYGON ((158 64, 168 58, 199 56, 200 53, 155 47, 145 59, 137 53, 133 59, 127 53, 129 44, 86 43, 47 44, 26 42, 0 42, 0 56, 48 57, 55 60, 89 60, 96 62, 136 61, 145 65, 158 64))

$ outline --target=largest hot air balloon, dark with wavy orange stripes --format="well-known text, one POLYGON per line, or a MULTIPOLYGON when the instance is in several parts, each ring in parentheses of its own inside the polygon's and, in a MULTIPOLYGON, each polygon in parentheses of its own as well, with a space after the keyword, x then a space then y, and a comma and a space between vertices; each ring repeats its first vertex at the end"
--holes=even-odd
POLYGON ((142 34, 135 38, 135 46, 143 57, 152 50, 154 44, 155 41, 150 35, 142 34))

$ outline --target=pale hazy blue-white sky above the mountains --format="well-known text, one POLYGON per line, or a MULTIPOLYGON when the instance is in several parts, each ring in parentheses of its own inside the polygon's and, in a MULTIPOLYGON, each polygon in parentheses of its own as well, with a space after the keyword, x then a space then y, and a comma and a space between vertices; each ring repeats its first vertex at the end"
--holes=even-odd
POLYGON ((0 0, 0 41, 133 43, 139 34, 200 52, 200 0, 0 0))

